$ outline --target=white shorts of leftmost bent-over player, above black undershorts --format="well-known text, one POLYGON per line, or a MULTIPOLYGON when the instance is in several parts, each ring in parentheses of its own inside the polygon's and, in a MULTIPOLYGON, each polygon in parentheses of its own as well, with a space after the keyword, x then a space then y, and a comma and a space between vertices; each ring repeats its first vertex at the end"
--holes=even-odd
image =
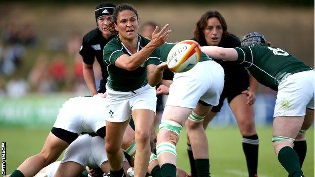
POLYGON ((106 98, 75 97, 59 109, 53 127, 73 133, 96 132, 105 126, 106 98))

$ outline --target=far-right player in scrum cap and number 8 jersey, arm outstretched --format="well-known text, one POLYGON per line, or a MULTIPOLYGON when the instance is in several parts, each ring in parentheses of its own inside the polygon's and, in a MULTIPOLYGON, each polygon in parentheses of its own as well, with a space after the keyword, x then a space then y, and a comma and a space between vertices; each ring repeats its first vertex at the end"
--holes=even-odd
POLYGON ((305 140, 305 131, 314 122, 315 72, 287 51, 269 45, 264 35, 253 32, 243 37, 241 47, 201 48, 210 57, 236 61, 258 82, 278 91, 273 120, 274 150, 289 176, 301 177, 303 157, 299 158, 292 147, 295 140, 305 140))

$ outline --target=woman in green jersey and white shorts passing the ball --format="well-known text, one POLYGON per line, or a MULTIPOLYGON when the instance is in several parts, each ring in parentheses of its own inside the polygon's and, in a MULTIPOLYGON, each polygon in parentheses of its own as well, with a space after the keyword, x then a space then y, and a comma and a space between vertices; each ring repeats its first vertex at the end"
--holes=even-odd
POLYGON ((104 62, 108 65, 106 151, 111 176, 123 175, 121 144, 132 114, 137 142, 135 176, 145 176, 150 159, 150 129, 156 109, 154 86, 161 81, 166 63, 160 64, 160 45, 168 39, 168 25, 159 32, 156 27, 152 40, 137 34, 138 14, 128 4, 115 8, 109 30, 116 34, 104 47, 104 62))

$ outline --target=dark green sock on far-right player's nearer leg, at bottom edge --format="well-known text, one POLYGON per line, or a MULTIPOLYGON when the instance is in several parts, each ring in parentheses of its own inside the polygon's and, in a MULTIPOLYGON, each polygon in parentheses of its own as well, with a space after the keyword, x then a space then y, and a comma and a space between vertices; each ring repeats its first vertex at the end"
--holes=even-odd
POLYGON ((300 168, 299 158, 296 152, 289 146, 280 149, 278 153, 278 160, 286 169, 290 176, 301 177, 303 172, 300 168))

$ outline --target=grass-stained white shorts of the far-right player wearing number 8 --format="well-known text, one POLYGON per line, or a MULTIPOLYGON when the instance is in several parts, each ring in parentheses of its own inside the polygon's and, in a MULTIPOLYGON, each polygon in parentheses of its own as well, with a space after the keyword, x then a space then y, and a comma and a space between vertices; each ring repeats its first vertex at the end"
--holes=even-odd
POLYGON ((304 116, 314 110, 315 71, 303 71, 285 78, 278 86, 274 117, 304 116))

